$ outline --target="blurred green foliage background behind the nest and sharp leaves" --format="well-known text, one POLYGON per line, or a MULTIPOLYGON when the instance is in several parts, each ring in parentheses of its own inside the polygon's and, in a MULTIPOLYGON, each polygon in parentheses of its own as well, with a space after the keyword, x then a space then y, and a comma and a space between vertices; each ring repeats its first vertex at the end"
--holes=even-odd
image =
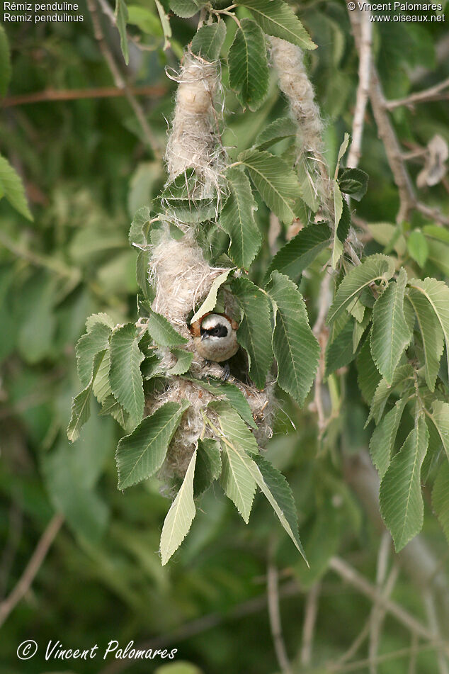
MULTIPOLYGON (((140 21, 144 31, 135 26, 129 30, 147 48, 131 42, 127 68, 118 33, 107 17, 101 16, 101 22, 127 82, 154 86, 152 95, 140 101, 163 147, 174 93, 164 67, 176 67, 197 20, 171 16, 172 48, 164 51, 156 7, 143 1, 141 5, 147 9, 146 23, 140 21)), ((89 9, 84 4, 80 9, 83 23, 6 26, 12 64, 8 96, 113 86, 89 9)), ((309 55, 309 66, 326 120, 326 156, 332 165, 343 133, 351 130, 357 53, 343 2, 309 0, 301 4, 300 16, 319 47, 309 55)), ((222 55, 227 54, 233 30, 229 22, 222 55)), ((449 74, 445 23, 375 24, 374 54, 388 99, 426 89, 449 74)), ((223 76, 226 82, 225 66, 223 76)), ((274 77, 257 112, 242 113, 233 94, 227 94, 225 103, 224 145, 239 150, 249 147, 285 110, 274 77)), ((404 151, 426 146, 436 133, 449 141, 447 101, 401 106, 392 118, 404 151)), ((161 568, 157 549, 168 502, 153 479, 126 495, 118 492, 113 457, 118 426, 109 417, 93 414, 76 445, 70 446, 65 434, 70 403, 79 388, 74 344, 84 332, 86 316, 107 311, 117 322, 125 322, 135 315, 137 254, 128 245, 127 231, 135 210, 149 203, 164 182, 161 160, 124 97, 20 105, 8 105, 6 99, 0 151, 23 178, 34 215, 28 222, 5 199, 0 202, 0 597, 16 585, 54 513, 64 515, 33 587, 1 627, 2 671, 60 671, 62 663, 45 663, 42 658, 50 639, 59 639, 67 648, 106 646, 110 639, 118 639, 123 647, 130 639, 158 639, 208 674, 278 671, 266 611, 267 564, 279 569, 280 593, 287 595, 280 603, 283 635, 290 656, 297 654, 297 671, 307 670, 300 665, 302 630, 317 591, 314 583, 321 579, 311 666, 313 671, 331 671, 325 663, 335 663, 350 646, 370 617, 372 602, 329 572, 329 559, 338 554, 375 583, 382 540, 372 513, 352 489, 348 468, 361 461, 369 440, 368 430, 363 430, 367 408, 356 387, 354 366, 341 373, 338 415, 324 449, 317 446, 312 410, 307 404, 300 410, 288 400, 280 405, 278 434, 268 449, 273 464, 292 485, 311 571, 261 499, 246 527, 218 490, 206 493, 191 534, 174 561, 161 568), (16 648, 28 638, 38 641, 40 655, 20 662, 16 648)), ((409 164, 414 178, 421 167, 419 159, 409 164)), ((357 204, 358 217, 394 226, 397 188, 370 110, 360 168, 370 174, 370 186, 357 204)), ((424 189, 421 198, 444 208, 447 195, 443 180, 424 189)), ((269 213, 262 203, 258 223, 265 244, 252 272, 256 282, 273 252, 269 213)), ((414 213, 406 234, 407 228, 419 230, 423 224, 421 215, 414 213)), ((283 238, 285 232, 280 232, 279 241, 283 238)), ((385 249, 369 232, 365 242, 367 253, 385 249)), ((419 262, 423 274, 442 278, 448 273, 448 259, 448 247, 441 244, 419 262)), ((312 322, 319 283, 318 260, 301 285, 312 322)), ((447 544, 431 514, 428 494, 424 496, 422 536, 438 558, 439 571, 447 571, 447 544)), ((388 560, 396 563, 392 556, 388 560)), ((447 584, 445 588, 447 592, 447 584)), ((425 595, 426 588, 401 568, 392 599, 427 624, 425 595)), ((379 653, 408 648, 411 642, 409 631, 387 615, 379 653)), ((358 656, 366 654, 363 645, 358 656)), ((420 674, 433 674, 441 666, 433 651, 416 657, 420 674)), ((114 671, 108 663, 101 665, 105 674, 114 671)), ((64 664, 64 670, 86 674, 98 672, 98 667, 97 661, 64 664)), ((157 664, 136 663, 129 670, 138 674, 155 668, 157 664)), ((405 674, 408 668, 407 656, 381 663, 377 670, 405 674)), ((362 665, 357 671, 370 669, 362 665)))

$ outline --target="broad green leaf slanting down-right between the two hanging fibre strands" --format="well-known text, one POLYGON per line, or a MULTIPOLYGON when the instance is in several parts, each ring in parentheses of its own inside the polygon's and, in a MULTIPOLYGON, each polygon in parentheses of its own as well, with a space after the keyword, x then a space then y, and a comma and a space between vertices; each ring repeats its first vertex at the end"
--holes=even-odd
POLYGON ((246 150, 238 157, 248 169, 251 180, 268 208, 283 222, 290 224, 295 219, 293 208, 300 194, 297 176, 280 157, 263 150, 246 150))

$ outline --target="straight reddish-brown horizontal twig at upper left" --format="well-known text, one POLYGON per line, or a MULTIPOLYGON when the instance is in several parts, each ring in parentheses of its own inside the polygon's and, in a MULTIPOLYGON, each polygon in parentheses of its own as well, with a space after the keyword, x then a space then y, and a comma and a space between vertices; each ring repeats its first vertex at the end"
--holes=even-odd
MULTIPOLYGON (((164 96, 166 86, 152 84, 151 86, 131 86, 130 91, 133 96, 164 96)), ((34 91, 32 94, 21 94, 20 96, 8 96, 2 101, 3 108, 12 108, 13 106, 25 106, 28 103, 50 103, 53 101, 78 101, 79 99, 111 99, 118 96, 125 96, 124 89, 118 89, 115 86, 100 86, 98 89, 45 89, 44 91, 34 91)))

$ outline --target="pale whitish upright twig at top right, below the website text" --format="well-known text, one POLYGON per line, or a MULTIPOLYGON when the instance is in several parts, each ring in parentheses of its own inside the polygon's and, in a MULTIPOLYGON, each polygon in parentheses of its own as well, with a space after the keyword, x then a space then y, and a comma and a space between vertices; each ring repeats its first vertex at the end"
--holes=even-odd
POLYGON ((370 11, 358 13, 360 20, 360 52, 358 60, 358 86, 356 95, 356 109, 353 117, 352 142, 348 152, 347 166, 356 168, 361 156, 363 121, 365 120, 366 104, 370 94, 371 79, 371 46, 373 41, 373 24, 370 21, 370 11))

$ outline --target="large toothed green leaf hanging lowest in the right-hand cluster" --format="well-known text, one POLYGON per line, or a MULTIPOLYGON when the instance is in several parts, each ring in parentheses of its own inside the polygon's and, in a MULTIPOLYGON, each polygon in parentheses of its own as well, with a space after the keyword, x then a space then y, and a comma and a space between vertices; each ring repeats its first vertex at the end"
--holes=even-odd
POLYGON ((428 446, 424 416, 419 417, 380 483, 380 512, 399 552, 423 525, 421 466, 428 446))

